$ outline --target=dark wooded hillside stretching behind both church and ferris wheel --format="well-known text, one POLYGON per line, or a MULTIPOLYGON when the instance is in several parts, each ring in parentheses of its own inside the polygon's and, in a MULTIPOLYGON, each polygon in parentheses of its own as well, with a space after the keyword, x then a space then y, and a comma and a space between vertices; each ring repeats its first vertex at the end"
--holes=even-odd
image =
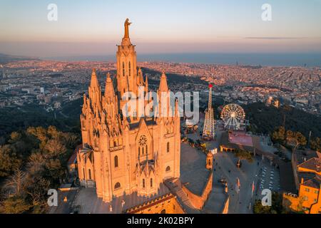
MULTIPOLYGON (((218 106, 221 100, 213 103, 215 118, 220 118, 218 106)), ((25 130, 29 126, 49 127, 54 125, 58 130, 72 133, 80 133, 79 115, 83 99, 73 100, 62 106, 62 109, 47 113, 39 106, 27 105, 21 108, 0 109, 0 135, 8 135, 16 130, 25 130)), ((321 118, 317 115, 306 113, 290 106, 275 108, 264 103, 251 103, 242 105, 245 110, 245 118, 250 120, 250 129, 253 133, 273 133, 273 131, 285 123, 287 130, 299 131, 308 138, 311 131, 312 138, 321 138, 321 118)), ((200 108, 203 111, 202 108, 200 108)), ((1 144, 1 140, 0 140, 1 144)))

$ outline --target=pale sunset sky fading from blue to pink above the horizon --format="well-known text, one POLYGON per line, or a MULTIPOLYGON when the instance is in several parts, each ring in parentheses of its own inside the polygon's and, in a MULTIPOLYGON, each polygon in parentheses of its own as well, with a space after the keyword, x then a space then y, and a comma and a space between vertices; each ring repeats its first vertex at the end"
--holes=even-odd
POLYGON ((321 0, 0 0, 0 53, 111 55, 126 18, 140 53, 321 53, 320 12, 321 0))

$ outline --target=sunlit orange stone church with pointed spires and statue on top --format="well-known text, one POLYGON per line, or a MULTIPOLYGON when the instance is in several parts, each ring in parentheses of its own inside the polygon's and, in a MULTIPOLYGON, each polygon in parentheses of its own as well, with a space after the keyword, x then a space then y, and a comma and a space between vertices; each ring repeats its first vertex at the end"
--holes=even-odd
MULTIPOLYGON (((116 53, 116 75, 113 79, 110 74, 106 76, 104 93, 93 70, 88 95, 83 95, 78 177, 81 186, 96 188, 96 195, 103 202, 133 192, 142 197, 158 195, 165 180, 180 177, 178 102, 168 105, 168 96, 165 100, 168 102, 162 99, 158 105, 148 106, 153 98, 148 96, 151 93, 148 78, 144 79, 137 66, 135 45, 128 31, 130 25, 127 19, 116 53), (136 112, 138 107, 130 110, 132 105, 126 108, 129 102, 139 106, 141 91, 147 97, 143 100, 144 110, 158 115, 141 115, 136 112), (133 114, 128 115, 124 110, 133 114)), ((158 97, 170 93, 165 73, 155 92, 158 97)))

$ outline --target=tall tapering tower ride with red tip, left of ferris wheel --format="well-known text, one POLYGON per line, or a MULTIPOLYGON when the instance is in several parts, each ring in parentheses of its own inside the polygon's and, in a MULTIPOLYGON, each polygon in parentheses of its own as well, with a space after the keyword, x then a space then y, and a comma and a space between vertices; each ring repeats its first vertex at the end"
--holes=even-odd
POLYGON ((213 139, 215 136, 215 120, 214 111, 212 108, 212 88, 213 85, 208 86, 210 92, 208 94, 208 109, 205 111, 203 138, 213 139))

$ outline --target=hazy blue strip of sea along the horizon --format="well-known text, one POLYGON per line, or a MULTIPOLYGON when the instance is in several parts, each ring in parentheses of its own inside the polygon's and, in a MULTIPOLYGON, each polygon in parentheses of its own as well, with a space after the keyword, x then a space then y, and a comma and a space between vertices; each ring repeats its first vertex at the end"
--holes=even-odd
MULTIPOLYGON (((241 66, 321 67, 321 53, 143 53, 138 61, 204 63, 241 66)), ((41 58, 55 61, 116 61, 115 55, 79 55, 41 58)))

